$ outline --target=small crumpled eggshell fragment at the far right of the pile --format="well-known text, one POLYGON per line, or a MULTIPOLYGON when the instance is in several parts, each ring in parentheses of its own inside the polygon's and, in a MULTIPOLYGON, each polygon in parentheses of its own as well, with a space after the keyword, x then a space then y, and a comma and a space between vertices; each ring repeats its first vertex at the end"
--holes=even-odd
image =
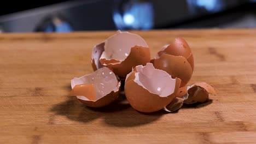
POLYGON ((194 83, 187 87, 187 91, 188 98, 184 100, 185 104, 204 103, 210 94, 216 94, 214 87, 205 82, 194 83))

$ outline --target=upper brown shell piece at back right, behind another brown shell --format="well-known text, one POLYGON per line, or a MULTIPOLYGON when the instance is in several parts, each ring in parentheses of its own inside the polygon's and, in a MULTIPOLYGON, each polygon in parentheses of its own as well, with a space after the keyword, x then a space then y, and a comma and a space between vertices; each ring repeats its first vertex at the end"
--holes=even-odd
POLYGON ((160 57, 164 53, 172 56, 185 57, 188 60, 192 71, 194 70, 193 53, 191 52, 187 41, 185 41, 183 38, 176 38, 170 45, 163 46, 162 49, 158 52, 158 54, 155 56, 155 58, 160 57))

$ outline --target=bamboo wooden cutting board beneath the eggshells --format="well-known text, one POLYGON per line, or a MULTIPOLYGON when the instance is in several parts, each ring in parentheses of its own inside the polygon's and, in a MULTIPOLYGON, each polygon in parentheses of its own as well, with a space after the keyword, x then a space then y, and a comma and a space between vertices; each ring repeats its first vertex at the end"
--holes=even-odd
POLYGON ((92 72, 92 47, 114 33, 1 34, 0 143, 256 143, 256 29, 134 31, 152 57, 185 38, 190 83, 217 89, 205 104, 147 114, 68 97, 70 80, 92 72))

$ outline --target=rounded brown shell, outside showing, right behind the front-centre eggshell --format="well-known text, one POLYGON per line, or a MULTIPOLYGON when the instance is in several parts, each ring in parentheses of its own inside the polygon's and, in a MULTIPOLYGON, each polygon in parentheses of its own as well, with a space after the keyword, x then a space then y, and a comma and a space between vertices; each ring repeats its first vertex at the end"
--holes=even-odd
POLYGON ((151 62, 156 69, 164 70, 172 77, 181 79, 181 87, 185 86, 191 79, 193 71, 185 57, 162 54, 151 62))

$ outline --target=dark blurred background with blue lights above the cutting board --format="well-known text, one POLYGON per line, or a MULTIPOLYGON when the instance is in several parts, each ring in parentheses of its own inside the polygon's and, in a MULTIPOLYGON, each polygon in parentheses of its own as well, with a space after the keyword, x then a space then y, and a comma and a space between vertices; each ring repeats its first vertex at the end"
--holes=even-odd
POLYGON ((256 27, 256 0, 84 0, 1 4, 0 32, 256 27))

